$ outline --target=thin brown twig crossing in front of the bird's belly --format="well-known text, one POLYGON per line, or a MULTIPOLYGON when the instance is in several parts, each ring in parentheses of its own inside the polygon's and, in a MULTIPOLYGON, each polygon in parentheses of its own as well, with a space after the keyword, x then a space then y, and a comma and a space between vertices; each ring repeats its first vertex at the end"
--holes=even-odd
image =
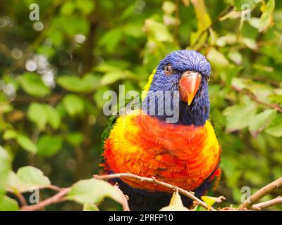
POLYGON ((204 203, 202 200, 197 198, 192 192, 185 191, 183 188, 179 188, 178 186, 173 186, 173 185, 167 184, 163 181, 159 181, 159 180, 155 179, 154 177, 150 178, 150 177, 138 176, 138 175, 129 174, 129 173, 109 174, 109 175, 94 175, 94 177, 97 178, 97 179, 103 179, 103 180, 109 180, 109 179, 115 179, 115 178, 121 178, 121 177, 129 177, 129 178, 137 179, 139 181, 145 181, 145 182, 149 182, 149 183, 158 184, 160 186, 164 186, 164 187, 169 188, 169 189, 174 190, 174 191, 178 190, 179 193, 182 193, 183 195, 187 196, 188 198, 192 199, 193 201, 199 203, 199 205, 201 205, 205 209, 211 210, 211 211, 216 211, 216 210, 214 210, 213 207, 209 207, 206 203, 204 203))

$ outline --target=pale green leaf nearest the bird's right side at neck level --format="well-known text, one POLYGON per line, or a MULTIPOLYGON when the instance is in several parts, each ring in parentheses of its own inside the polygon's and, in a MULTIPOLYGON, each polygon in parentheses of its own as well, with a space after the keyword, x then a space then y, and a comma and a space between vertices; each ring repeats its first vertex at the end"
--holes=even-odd
POLYGON ((226 132, 233 132, 247 127, 255 117, 257 106, 255 103, 249 105, 233 105, 223 111, 226 116, 226 132))

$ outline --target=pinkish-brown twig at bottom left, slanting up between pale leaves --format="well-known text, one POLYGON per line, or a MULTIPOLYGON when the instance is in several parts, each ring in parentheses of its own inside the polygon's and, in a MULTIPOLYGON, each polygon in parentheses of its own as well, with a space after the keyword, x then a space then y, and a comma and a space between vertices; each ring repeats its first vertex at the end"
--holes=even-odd
POLYGON ((51 205, 54 203, 61 203, 63 200, 66 200, 65 195, 71 191, 71 188, 63 188, 59 193, 52 196, 51 198, 47 198, 47 200, 42 201, 41 203, 35 205, 27 205, 21 208, 22 211, 36 211, 41 210, 42 208, 46 207, 47 205, 51 205))

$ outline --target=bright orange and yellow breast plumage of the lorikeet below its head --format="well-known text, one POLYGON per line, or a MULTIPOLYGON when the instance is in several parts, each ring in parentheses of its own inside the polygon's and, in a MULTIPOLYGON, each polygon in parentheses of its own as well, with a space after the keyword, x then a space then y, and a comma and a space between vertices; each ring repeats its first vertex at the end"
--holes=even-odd
MULTIPOLYGON (((154 176, 189 191, 212 174, 220 153, 209 121, 202 127, 166 124, 139 111, 119 117, 104 145, 106 169, 154 176)), ((168 191, 135 179, 123 181, 134 188, 168 191)))

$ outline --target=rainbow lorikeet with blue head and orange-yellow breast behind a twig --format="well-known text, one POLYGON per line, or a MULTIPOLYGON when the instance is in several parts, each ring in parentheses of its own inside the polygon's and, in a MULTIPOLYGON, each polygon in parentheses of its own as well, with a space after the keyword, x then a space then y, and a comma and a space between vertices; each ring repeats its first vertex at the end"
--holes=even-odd
MULTIPOLYGON (((221 174, 221 147, 209 122, 210 72, 209 62, 197 51, 174 51, 161 60, 145 92, 134 100, 140 105, 109 120, 102 135, 104 172, 154 176, 197 197, 214 191, 221 174), (165 93, 164 98, 156 93, 165 93), (156 103, 177 108, 178 120, 168 122, 171 115, 159 113, 156 103)), ((163 186, 125 177, 116 182, 128 195, 130 210, 169 205, 172 191, 163 186)), ((181 198, 185 206, 192 204, 181 198)))

